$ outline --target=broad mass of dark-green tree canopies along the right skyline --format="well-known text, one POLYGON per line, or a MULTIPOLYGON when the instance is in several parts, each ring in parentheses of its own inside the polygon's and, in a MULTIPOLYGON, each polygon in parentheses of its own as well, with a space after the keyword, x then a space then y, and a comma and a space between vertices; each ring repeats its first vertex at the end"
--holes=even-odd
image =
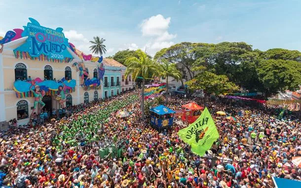
POLYGON ((185 42, 161 49, 154 59, 176 63, 185 81, 195 79, 188 83, 203 79, 199 73, 206 70, 207 76, 209 73, 217 79, 226 76, 228 82, 245 90, 267 95, 286 89, 296 90, 301 84, 301 52, 298 50, 272 48, 261 51, 244 42, 185 42))

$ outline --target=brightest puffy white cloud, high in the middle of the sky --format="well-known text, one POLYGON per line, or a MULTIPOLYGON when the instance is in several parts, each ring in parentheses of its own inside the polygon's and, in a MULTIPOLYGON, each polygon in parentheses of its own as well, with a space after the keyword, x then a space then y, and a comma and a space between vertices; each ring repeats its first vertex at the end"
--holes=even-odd
POLYGON ((164 18, 161 14, 151 16, 142 21, 140 25, 142 36, 160 36, 167 31, 170 17, 164 18))

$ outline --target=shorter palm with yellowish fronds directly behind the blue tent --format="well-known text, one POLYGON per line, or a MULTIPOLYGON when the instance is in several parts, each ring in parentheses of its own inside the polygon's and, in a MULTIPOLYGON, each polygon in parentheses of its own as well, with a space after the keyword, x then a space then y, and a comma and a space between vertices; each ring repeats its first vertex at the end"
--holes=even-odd
POLYGON ((157 74, 160 77, 166 78, 166 97, 165 97, 165 103, 168 102, 168 77, 172 77, 176 79, 177 81, 182 78, 182 73, 177 68, 176 63, 169 63, 166 60, 164 60, 162 63, 158 63, 158 69, 157 74))

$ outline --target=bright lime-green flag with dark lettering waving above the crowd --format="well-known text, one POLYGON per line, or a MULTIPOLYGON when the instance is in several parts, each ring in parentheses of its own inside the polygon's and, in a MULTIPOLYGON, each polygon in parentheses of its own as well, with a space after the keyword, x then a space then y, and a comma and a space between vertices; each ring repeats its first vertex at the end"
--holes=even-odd
POLYGON ((193 153, 200 156, 203 156, 205 151, 211 148, 213 142, 220 137, 207 107, 195 122, 181 129, 178 135, 191 145, 193 153))

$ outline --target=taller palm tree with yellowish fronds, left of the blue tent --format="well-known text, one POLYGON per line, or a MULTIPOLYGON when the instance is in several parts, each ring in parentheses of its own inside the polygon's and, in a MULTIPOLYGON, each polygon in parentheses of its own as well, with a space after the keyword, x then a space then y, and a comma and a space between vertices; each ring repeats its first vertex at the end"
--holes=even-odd
POLYGON ((141 99, 141 117, 145 119, 144 115, 144 88, 145 88, 145 79, 148 76, 155 72, 156 67, 152 60, 148 57, 148 55, 143 52, 141 49, 136 51, 137 57, 128 57, 125 60, 125 65, 127 66, 125 71, 125 77, 129 74, 132 74, 133 80, 137 77, 142 77, 142 99, 141 99))

